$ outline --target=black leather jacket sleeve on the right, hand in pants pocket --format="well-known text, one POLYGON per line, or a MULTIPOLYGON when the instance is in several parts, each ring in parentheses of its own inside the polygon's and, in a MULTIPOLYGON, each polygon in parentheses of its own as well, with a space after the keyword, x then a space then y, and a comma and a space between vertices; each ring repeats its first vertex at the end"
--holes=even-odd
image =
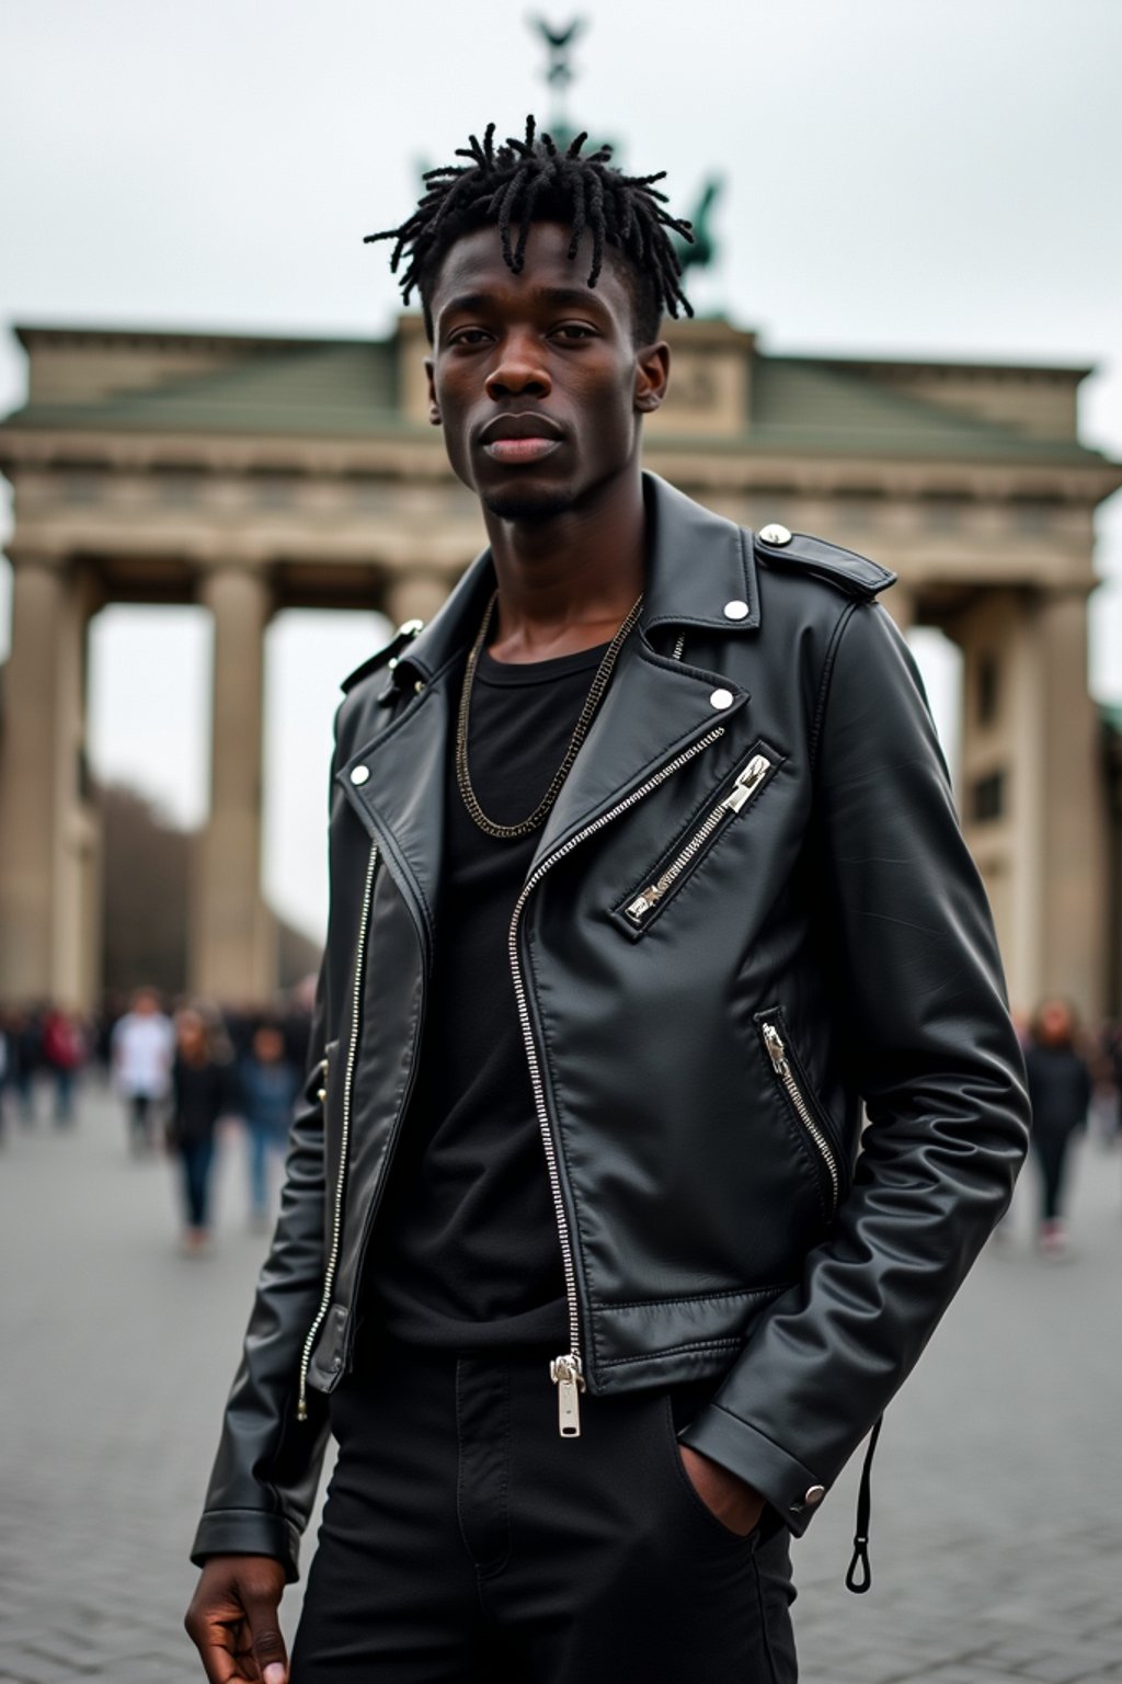
POLYGON ((829 1236, 678 1433, 796 1534, 1006 1211, 1029 1122, 986 891, 922 679, 880 605, 843 615, 819 721, 821 958, 868 1123, 829 1236))

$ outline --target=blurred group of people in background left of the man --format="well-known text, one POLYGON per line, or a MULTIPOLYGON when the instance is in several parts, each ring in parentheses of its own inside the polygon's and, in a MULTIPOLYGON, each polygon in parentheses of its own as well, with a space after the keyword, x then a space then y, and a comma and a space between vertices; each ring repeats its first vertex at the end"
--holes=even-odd
POLYGON ((182 1246, 210 1246, 219 1125, 244 1133, 249 1221, 273 1219, 279 1165, 299 1091, 315 980, 271 1005, 163 1000, 156 989, 106 997, 93 1014, 34 1002, 0 1007, 0 1140, 12 1127, 76 1127, 76 1091, 118 1096, 126 1150, 178 1167, 182 1246))

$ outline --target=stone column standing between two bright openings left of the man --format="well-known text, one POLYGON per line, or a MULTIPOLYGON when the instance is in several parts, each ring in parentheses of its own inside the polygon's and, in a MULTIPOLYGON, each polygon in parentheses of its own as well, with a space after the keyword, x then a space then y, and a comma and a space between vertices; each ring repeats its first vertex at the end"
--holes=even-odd
POLYGON ((227 1004, 269 999, 276 930, 261 896, 261 734, 269 588, 252 568, 219 566, 198 591, 214 616, 210 818, 198 839, 188 941, 190 989, 227 1004))

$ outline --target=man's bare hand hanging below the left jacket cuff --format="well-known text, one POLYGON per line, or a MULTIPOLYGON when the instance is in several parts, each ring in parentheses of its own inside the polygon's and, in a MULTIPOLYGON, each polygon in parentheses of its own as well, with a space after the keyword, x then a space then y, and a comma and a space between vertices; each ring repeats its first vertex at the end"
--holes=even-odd
POLYGON ((183 1620, 210 1684, 288 1684, 283 1590, 273 1556, 210 1556, 183 1620))

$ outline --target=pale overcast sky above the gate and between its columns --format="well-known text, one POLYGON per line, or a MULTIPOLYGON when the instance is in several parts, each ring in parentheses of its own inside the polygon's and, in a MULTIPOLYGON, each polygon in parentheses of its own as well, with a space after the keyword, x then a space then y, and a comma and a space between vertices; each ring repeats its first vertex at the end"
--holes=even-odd
MULTIPOLYGON (((545 15, 577 10, 574 116, 631 168, 668 168, 686 212, 725 175, 696 305, 769 350, 1095 364, 1083 436, 1122 455, 1120 0, 545 15)), ((547 115, 542 66, 508 0, 3 0, 0 411, 24 394, 13 322, 385 332, 387 249, 362 236, 469 130, 547 115)), ((1092 684, 1122 701, 1122 497, 1100 571, 1092 684)), ((7 584, 5 566, 0 653, 7 584)), ((336 682, 378 637, 336 615, 269 635, 266 886, 311 933, 336 682)), ((207 652, 192 610, 94 625, 94 763, 187 822, 207 802, 207 652)), ((945 667, 920 658, 949 719, 945 667)))

